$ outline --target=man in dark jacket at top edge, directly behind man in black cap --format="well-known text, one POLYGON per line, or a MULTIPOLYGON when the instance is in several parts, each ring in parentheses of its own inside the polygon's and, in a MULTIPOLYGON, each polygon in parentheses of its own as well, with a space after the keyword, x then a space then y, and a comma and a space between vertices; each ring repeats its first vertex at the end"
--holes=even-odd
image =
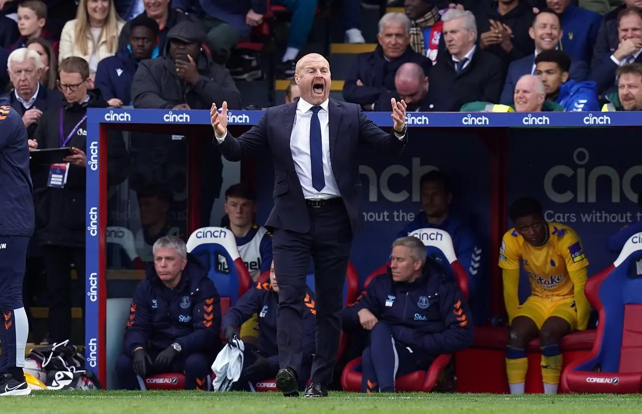
MULTIPOLYGON (((169 0, 143 0, 143 12, 139 15, 146 15, 150 19, 154 19, 159 25, 159 35, 158 35, 158 45, 162 49, 165 46, 167 39, 167 33, 171 28, 176 26, 182 21, 189 21, 196 24, 200 24, 198 19, 196 19, 193 14, 185 14, 178 12, 171 7, 169 7, 169 0)), ((134 8, 132 8, 133 10, 134 8)), ((125 23, 123 30, 121 31, 120 37, 118 38, 118 48, 126 47, 130 42, 129 32, 132 30, 132 21, 133 19, 128 19, 129 21, 125 23)))

